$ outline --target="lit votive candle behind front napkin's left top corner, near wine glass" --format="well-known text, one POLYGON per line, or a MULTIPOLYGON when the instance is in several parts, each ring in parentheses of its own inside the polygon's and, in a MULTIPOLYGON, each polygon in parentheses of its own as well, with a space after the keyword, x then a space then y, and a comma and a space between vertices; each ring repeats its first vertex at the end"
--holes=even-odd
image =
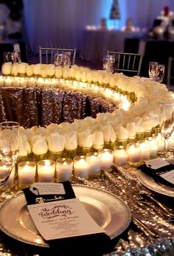
POLYGON ((28 186, 35 182, 36 165, 35 162, 20 162, 18 164, 18 185, 28 186))

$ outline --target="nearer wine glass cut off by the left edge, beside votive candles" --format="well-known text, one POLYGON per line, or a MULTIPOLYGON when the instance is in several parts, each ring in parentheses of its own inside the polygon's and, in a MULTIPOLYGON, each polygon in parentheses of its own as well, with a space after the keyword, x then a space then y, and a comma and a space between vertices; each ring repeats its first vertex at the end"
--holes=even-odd
MULTIPOLYGON (((4 137, 0 137, 0 187, 2 187, 10 173, 13 170, 14 157, 13 157, 13 141, 4 137)), ((2 196, 1 198, 5 198, 2 196)))

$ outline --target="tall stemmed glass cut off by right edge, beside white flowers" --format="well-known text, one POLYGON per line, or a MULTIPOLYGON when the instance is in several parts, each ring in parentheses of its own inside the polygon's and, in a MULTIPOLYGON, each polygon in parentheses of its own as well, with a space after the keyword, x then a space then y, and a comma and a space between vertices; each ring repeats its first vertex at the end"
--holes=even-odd
POLYGON ((164 136, 164 158, 170 157, 168 153, 168 139, 174 131, 174 103, 161 103, 159 126, 164 136))

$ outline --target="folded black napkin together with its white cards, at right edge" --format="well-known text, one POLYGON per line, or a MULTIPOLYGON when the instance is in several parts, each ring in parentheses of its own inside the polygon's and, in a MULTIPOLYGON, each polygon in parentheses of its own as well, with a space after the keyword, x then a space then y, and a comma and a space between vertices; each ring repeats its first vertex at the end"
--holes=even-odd
POLYGON ((174 187, 174 165, 163 159, 151 159, 137 167, 156 181, 174 187))

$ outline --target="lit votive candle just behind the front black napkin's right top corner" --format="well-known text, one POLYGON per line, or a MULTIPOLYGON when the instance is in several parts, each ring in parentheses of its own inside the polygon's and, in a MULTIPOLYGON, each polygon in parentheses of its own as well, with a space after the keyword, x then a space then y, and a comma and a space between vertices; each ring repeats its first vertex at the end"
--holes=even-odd
POLYGON ((70 181, 72 179, 73 161, 69 158, 56 160, 55 179, 57 182, 70 181))

